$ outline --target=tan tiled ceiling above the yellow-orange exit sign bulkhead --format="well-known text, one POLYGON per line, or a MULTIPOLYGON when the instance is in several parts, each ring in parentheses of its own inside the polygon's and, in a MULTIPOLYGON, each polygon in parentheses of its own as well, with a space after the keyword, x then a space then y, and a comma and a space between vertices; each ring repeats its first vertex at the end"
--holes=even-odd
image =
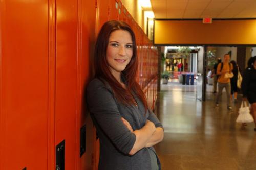
POLYGON ((256 18, 256 0, 151 0, 155 18, 256 18))

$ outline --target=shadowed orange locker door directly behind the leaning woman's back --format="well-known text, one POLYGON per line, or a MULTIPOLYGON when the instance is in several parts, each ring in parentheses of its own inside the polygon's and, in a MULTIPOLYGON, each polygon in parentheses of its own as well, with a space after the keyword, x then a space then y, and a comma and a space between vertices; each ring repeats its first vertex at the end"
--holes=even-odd
MULTIPOLYGON (((96 6, 94 1, 83 0, 79 6, 80 9, 80 25, 81 30, 78 36, 78 67, 80 70, 80 90, 78 90, 78 105, 77 110, 79 113, 79 121, 77 131, 80 133, 80 127, 86 125, 86 152, 80 157, 80 165, 78 169, 92 169, 92 154, 93 154, 93 123, 88 112, 86 112, 86 101, 85 101, 85 88, 90 78, 93 75, 93 63, 94 58, 94 44, 95 44, 95 21, 96 21, 96 6), (79 111, 80 110, 80 111, 79 111)), ((79 32, 78 32, 79 33, 79 32)), ((78 145, 79 150, 79 145, 78 145)))

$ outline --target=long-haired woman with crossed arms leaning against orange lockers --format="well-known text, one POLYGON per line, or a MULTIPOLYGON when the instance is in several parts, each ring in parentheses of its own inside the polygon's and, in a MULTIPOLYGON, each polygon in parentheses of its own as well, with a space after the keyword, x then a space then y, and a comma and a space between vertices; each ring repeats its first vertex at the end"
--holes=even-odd
POLYGON ((136 82, 135 35, 121 21, 106 22, 95 46, 95 78, 87 102, 100 139, 99 170, 161 169, 153 145, 163 128, 136 82))

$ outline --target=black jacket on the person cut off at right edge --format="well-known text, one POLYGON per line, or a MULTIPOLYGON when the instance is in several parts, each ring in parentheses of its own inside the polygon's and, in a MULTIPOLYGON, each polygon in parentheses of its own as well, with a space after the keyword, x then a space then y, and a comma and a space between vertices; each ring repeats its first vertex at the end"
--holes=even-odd
POLYGON ((242 81, 243 97, 256 95, 256 70, 253 66, 247 67, 242 81))

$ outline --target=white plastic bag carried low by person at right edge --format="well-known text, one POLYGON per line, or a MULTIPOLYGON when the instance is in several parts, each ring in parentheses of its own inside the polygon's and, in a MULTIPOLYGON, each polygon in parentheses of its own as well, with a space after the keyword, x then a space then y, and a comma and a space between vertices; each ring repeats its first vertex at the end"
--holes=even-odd
POLYGON ((242 101, 241 107, 238 111, 239 115, 237 118, 237 123, 250 123, 253 122, 253 117, 250 115, 250 109, 245 101, 242 101), (246 106, 247 105, 247 106, 246 106))

